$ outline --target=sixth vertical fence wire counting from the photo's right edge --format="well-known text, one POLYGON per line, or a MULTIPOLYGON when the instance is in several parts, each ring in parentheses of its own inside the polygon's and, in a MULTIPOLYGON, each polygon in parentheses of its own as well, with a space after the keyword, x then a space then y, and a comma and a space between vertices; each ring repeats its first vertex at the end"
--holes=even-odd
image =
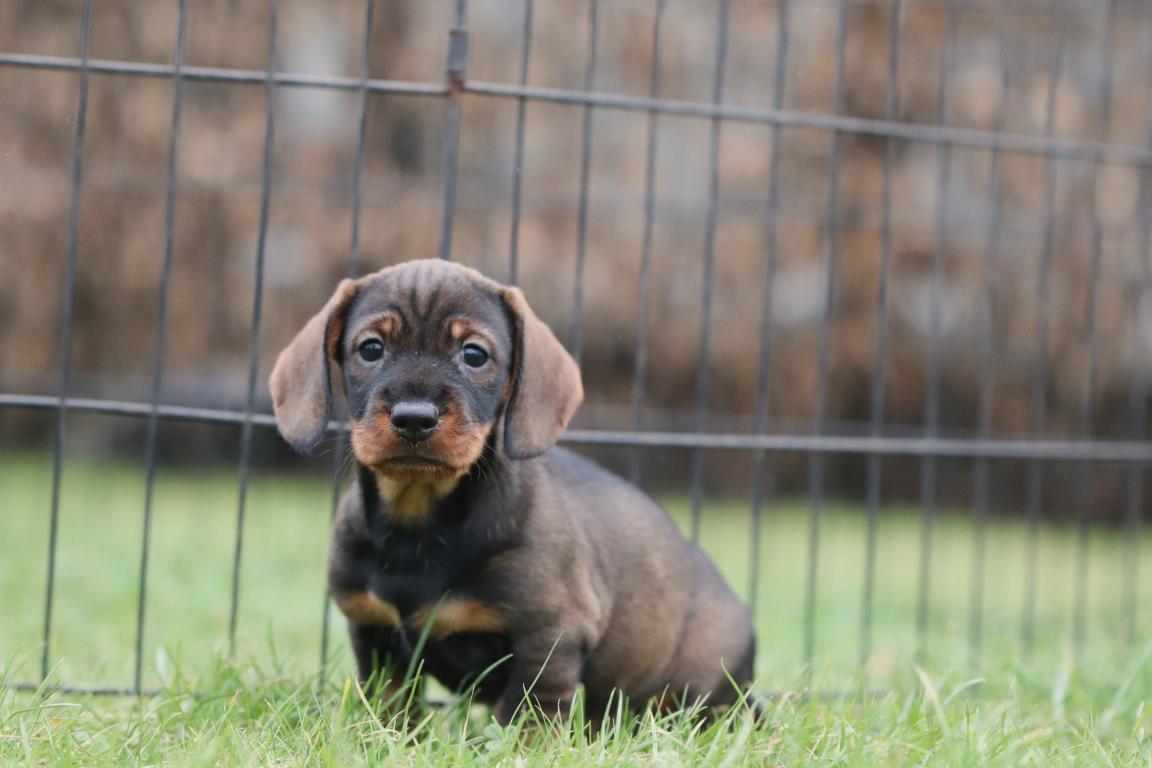
MULTIPOLYGON (((903 0, 892 0, 888 18, 888 88, 885 116, 895 120, 900 112, 900 45, 903 0)), ((884 143, 884 176, 880 200, 880 269, 876 287, 876 343, 872 349, 872 388, 869 434, 880 438, 884 432, 885 390, 888 363, 888 288, 892 282, 892 166, 896 140, 884 143)), ((872 611, 876 602, 876 549, 880 527, 880 494, 884 480, 884 457, 867 458, 867 527, 864 534, 864 586, 861 595, 859 666, 872 655, 872 611)))

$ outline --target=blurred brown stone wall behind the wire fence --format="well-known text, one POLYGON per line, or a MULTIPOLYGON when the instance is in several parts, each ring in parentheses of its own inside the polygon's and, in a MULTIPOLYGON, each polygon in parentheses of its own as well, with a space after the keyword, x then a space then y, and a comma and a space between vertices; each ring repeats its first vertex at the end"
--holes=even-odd
MULTIPOLYGON (((262 70, 266 66, 266 0, 189 3, 187 63, 262 70)), ((452 5, 379 0, 372 30, 371 75, 440 83, 452 5)), ((947 122, 993 130, 996 105, 1005 128, 1045 130, 1054 46, 1063 35, 1053 130, 1060 138, 1146 145, 1152 128, 1147 73, 1152 9, 1068 0, 1060 18, 1038 0, 995 3, 954 0, 955 48, 945 50, 947 3, 905 2, 897 119, 935 123, 947 79, 947 122), (1061 32, 1061 25, 1062 32, 1061 32), (1007 35, 1001 60, 1000 36, 1007 35), (1001 68, 1007 92, 1001 93, 1001 68), (945 73, 942 75, 942 73, 945 73), (1111 82, 1111 99, 1107 84, 1111 82)), ((0 50, 76 55, 79 0, 0 0, 0 50)), ((654 0, 601 0, 596 89, 645 96, 651 73, 654 0)), ((843 113, 884 119, 889 88, 889 2, 849 0, 843 113)), ((833 108, 836 3, 793 2, 783 104, 826 114, 833 108)), ((280 68, 359 75, 363 2, 282 0, 280 68)), ((469 77, 518 79, 523 5, 472 0, 469 77)), ((773 102, 780 18, 775 2, 732 0, 725 101, 773 102)), ((661 38, 661 94, 706 101, 714 68, 717 3, 668 0, 661 38)), ((588 8, 537 0, 529 82, 583 88, 588 8)), ((97 0, 92 55, 170 62, 174 0, 97 0)), ((6 391, 55 391, 61 275, 65 264, 76 75, 0 67, 0 386, 6 391)), ((164 237, 164 189, 172 84, 165 78, 93 74, 81 198, 78 282, 74 322, 73 394, 137 400, 147 396, 164 237)), ((348 271, 357 129, 356 93, 281 88, 275 96, 274 188, 267 239, 263 377, 276 352, 348 271)), ((516 101, 463 99, 454 258, 494 277, 508 274, 516 101)), ((583 108, 530 102, 523 172, 518 281, 561 339, 571 335, 583 108)), ((166 402, 236 406, 243 403, 258 238, 265 90, 262 85, 187 82, 180 126, 175 254, 166 402)), ((442 200, 444 102, 437 98, 369 98, 364 158, 362 272, 437 253, 442 200)), ((577 425, 630 426, 630 387, 642 236, 647 115, 593 114, 582 362, 588 402, 577 425)), ((710 122, 659 119, 649 371, 643 425, 694 427, 705 223, 708 207, 710 122)), ((746 432, 756 403, 766 259, 765 221, 772 130, 726 123, 719 158, 719 208, 708 360, 710 429, 746 432)), ((806 433, 813 418, 821 309, 821 257, 835 237, 831 326, 829 431, 859 432, 870 418, 869 393, 878 326, 882 183, 886 140, 842 134, 836 226, 826 226, 827 131, 781 131, 779 250, 772 295, 770 415, 773 428, 806 433)), ((943 281, 933 291, 941 159, 934 144, 896 140, 892 167, 890 312, 886 431, 923 428, 926 362, 933 307, 939 311, 941 432, 971 435, 977 424, 983 286, 994 215, 992 153, 950 152, 945 188, 943 281)), ((1101 265, 1096 301, 1099 381, 1093 432, 1123 438, 1130 382, 1152 360, 1152 319, 1138 318, 1150 290, 1142 260, 1140 177, 1131 166, 1055 161, 1049 273, 1041 280, 1048 160, 1003 153, 1000 160, 1001 246, 991 261, 995 313, 992 429, 1029 434, 1037 302, 1047 303, 1047 436, 1078 436, 1090 363, 1093 222, 1101 265)), ((1149 393, 1138 393, 1147 398, 1149 393)), ((24 444, 47 434, 47 415, 5 411, 0 438, 24 444)), ((141 424, 84 419, 69 435, 91 450, 137 450, 141 424)), ((203 431, 202 431, 203 432, 203 431)), ((211 432, 211 431, 209 431, 211 432)), ((176 436, 173 457, 209 458, 233 446, 232 431, 176 436)), ((283 458, 274 435, 260 433, 258 456, 283 458)), ((234 449, 233 449, 234 450, 234 449)), ((223 451, 226 453, 226 451, 223 451)), ((609 463, 617 453, 604 451, 609 463)), ((646 461, 653 481, 683 476, 683 451, 646 461)), ((945 462, 942 492, 970 493, 970 463, 945 462)), ((805 488, 806 463, 779 456, 781 493, 805 488)), ((886 486, 915 496, 918 462, 887 462, 886 486)), ((856 494, 864 459, 829 464, 833 492, 856 494)), ((742 493, 746 456, 710 457, 710 488, 742 493)), ((999 493, 1016 503, 1022 465, 998 465, 999 493)), ((1053 504, 1066 494, 1051 480, 1053 504)), ((1122 474, 1100 471, 1101 510, 1119 507, 1122 474), (1109 479, 1111 478, 1111 479, 1109 479)))

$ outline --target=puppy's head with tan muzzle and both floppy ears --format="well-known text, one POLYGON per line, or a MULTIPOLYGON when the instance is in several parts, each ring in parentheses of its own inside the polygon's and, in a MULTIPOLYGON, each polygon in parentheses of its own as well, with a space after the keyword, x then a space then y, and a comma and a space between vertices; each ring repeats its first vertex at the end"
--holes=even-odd
POLYGON ((454 479, 502 419, 509 458, 538 456, 583 398, 579 370, 516 288, 439 260, 346 280, 280 353, 276 425, 297 450, 344 393, 356 458, 385 477, 454 479))

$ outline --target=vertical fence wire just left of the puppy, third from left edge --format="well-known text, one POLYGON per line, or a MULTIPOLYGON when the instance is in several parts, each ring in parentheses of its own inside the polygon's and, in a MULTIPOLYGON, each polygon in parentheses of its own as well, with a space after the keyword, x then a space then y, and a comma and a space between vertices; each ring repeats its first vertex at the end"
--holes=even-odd
POLYGON ((276 120, 276 23, 280 0, 272 0, 268 8, 267 82, 265 83, 264 159, 260 167, 260 222, 256 243, 252 287, 252 321, 249 337, 248 397, 244 402, 244 424, 240 439, 240 491, 236 503, 235 549, 232 556, 232 599, 228 608, 228 655, 236 653, 236 624, 240 613, 240 575, 244 555, 244 522, 248 512, 248 485, 252 459, 252 415, 256 411, 256 382, 260 372, 260 322, 264 310, 264 261, 268 243, 268 215, 272 204, 272 183, 275 175, 276 120))

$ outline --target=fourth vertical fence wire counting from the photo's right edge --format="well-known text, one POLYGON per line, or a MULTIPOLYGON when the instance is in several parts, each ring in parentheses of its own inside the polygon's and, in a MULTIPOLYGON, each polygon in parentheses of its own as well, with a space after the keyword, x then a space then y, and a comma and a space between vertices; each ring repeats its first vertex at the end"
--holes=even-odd
MULTIPOLYGON (((999 67, 1000 93, 996 99, 996 132, 1002 132, 1008 119, 1008 86, 1010 85, 1011 26, 1007 20, 1000 25, 999 67)), ((1003 180, 1000 172, 1001 150, 992 149, 991 168, 991 212, 988 241, 984 248, 980 290, 980 360, 979 390, 977 394, 977 434, 987 440, 992 432, 992 404, 995 386, 995 317, 996 317, 996 282, 995 274, 1000 264, 1000 237, 1003 226, 1003 180)), ((979 456, 972 472, 972 585, 968 607, 968 657, 969 667, 979 666, 984 647, 984 557, 987 545, 987 517, 991 504, 992 464, 986 456, 979 456)))

